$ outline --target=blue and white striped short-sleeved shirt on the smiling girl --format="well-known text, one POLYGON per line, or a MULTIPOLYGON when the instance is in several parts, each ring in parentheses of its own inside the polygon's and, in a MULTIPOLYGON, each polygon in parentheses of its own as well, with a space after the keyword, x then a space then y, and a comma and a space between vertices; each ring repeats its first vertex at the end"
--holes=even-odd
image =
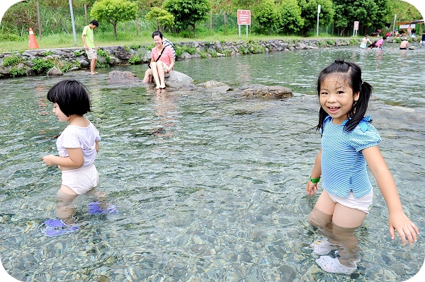
POLYGON ((353 191, 355 198, 372 191, 366 170, 366 160, 361 153, 365 148, 380 143, 378 130, 370 124, 370 117, 363 117, 352 131, 344 131, 344 124, 333 124, 327 116, 323 122, 322 180, 324 189, 336 196, 348 198, 353 191))

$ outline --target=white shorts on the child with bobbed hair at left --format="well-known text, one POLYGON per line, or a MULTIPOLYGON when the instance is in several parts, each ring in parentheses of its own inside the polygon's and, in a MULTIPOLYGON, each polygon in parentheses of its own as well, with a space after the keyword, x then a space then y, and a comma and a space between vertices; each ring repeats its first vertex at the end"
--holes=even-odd
POLYGON ((62 185, 79 195, 89 192, 98 183, 99 175, 93 163, 76 170, 62 170, 62 185))

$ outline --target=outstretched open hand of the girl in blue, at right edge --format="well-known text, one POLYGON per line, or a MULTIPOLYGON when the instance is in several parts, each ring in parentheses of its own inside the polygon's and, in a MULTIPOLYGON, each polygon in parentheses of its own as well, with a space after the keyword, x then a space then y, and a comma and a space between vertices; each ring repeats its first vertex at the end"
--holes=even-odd
POLYGON ((399 233, 402 238, 403 245, 406 244, 406 236, 407 240, 409 240, 409 245, 412 245, 413 242, 417 242, 416 234, 419 234, 419 229, 403 212, 390 213, 389 223, 392 240, 395 238, 394 230, 397 230, 397 233, 399 233))

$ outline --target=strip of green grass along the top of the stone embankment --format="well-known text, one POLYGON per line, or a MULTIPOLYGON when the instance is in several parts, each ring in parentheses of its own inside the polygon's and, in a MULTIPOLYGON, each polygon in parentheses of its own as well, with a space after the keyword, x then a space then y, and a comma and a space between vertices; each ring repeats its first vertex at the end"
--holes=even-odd
MULTIPOLYGON (((149 45, 152 44, 152 33, 149 32, 140 32, 139 36, 134 32, 123 32, 118 31, 117 39, 113 37, 113 34, 110 32, 98 31, 95 32, 94 40, 98 47, 101 46, 111 46, 111 45, 149 45)), ((281 35, 248 35, 248 40, 246 40, 246 34, 241 34, 239 37, 238 34, 232 35, 222 35, 222 34, 213 34, 205 35, 205 33, 198 33, 197 38, 191 37, 177 37, 173 34, 166 34, 164 36, 169 39, 171 42, 187 42, 187 41, 204 41, 204 42, 235 42, 242 40, 247 42, 249 40, 259 41, 259 40, 302 40, 302 39, 336 39, 341 37, 330 37, 327 34, 319 34, 319 37, 297 37, 297 36, 281 36, 281 35)), ((37 36, 36 36, 37 37, 37 36)), ((360 37, 359 37, 360 38, 360 37)), ((83 48, 83 42, 81 40, 81 35, 77 34, 77 45, 74 42, 74 35, 72 34, 61 34, 61 35, 43 35, 42 38, 37 37, 39 49, 57 49, 57 48, 69 48, 69 47, 81 47, 83 48)), ((23 52, 28 49, 28 39, 21 41, 0 41, 0 52, 23 52)))

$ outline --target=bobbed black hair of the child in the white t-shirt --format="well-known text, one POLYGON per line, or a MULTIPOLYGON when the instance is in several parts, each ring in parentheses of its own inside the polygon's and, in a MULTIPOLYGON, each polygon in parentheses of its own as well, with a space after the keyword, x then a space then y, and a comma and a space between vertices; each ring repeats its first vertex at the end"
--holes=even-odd
POLYGON ((67 79, 56 83, 47 92, 47 100, 55 102, 70 117, 91 112, 91 102, 86 87, 79 81, 67 79))

